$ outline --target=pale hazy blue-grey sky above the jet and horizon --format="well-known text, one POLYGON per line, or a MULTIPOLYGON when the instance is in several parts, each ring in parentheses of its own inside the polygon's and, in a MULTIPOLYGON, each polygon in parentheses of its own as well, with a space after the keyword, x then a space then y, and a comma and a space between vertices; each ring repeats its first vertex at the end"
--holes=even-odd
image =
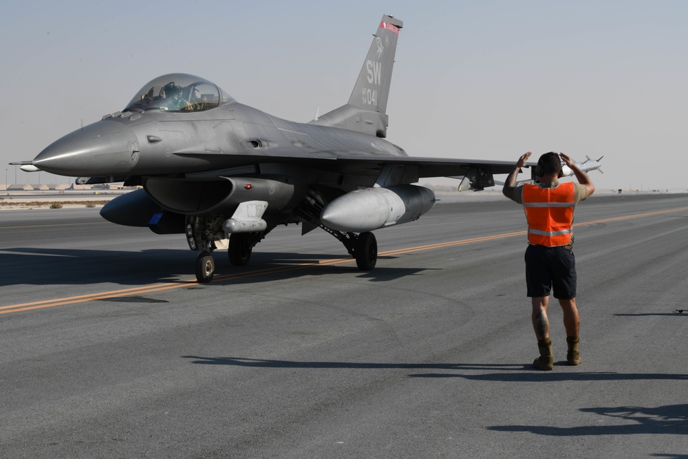
POLYGON ((382 14, 404 21, 387 140, 409 155, 604 155, 600 189, 688 189, 683 0, 10 0, 0 160, 33 159, 171 72, 307 122, 347 102, 382 14))

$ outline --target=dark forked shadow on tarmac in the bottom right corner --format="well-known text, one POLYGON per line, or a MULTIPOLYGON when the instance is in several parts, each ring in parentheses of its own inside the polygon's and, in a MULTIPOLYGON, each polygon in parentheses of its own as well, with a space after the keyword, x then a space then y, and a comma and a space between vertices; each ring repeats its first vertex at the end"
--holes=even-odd
MULTIPOLYGON (((502 432, 530 432, 546 436, 602 436, 637 434, 688 434, 688 405, 663 407, 596 407, 581 408, 581 412, 594 413, 627 420, 622 425, 586 425, 580 427, 552 427, 550 425, 499 425, 489 430, 502 432)), ((656 455, 668 458, 688 458, 685 454, 656 455)))

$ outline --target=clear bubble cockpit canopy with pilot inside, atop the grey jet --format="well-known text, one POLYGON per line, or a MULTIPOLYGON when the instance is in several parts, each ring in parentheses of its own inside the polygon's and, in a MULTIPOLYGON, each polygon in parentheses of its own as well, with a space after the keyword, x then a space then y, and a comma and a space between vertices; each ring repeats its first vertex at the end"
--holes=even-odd
POLYGON ((233 101, 222 89, 204 78, 168 74, 150 81, 131 99, 126 110, 204 111, 233 101))

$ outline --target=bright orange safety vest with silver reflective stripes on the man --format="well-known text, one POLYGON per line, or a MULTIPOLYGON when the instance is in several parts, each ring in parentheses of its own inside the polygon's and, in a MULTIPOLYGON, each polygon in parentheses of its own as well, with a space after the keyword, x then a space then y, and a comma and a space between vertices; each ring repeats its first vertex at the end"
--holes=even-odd
POLYGON ((573 182, 560 183, 555 188, 525 184, 522 197, 530 244, 548 247, 570 244, 576 208, 573 182))

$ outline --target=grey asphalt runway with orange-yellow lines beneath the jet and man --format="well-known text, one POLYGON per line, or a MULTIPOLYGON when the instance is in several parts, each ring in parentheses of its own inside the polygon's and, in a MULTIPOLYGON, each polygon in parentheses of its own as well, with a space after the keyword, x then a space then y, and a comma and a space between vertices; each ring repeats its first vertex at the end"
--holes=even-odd
POLYGON ((532 370, 525 219, 440 202, 369 273, 277 228, 196 284, 182 235, 0 212, 0 457, 688 458, 688 196, 576 213, 583 364, 532 370))

